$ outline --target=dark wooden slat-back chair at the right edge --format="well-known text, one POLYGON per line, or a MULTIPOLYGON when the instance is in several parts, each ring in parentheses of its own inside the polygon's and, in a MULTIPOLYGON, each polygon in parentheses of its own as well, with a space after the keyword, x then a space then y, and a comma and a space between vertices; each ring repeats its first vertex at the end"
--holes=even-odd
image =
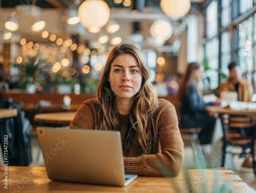
POLYGON ((240 115, 229 115, 228 122, 225 124, 225 120, 222 118, 223 125, 223 154, 222 154, 222 167, 225 163, 226 153, 234 154, 232 151, 227 151, 228 146, 241 146, 249 147, 250 153, 253 158, 253 170, 256 175, 255 161, 254 161, 254 141, 255 141, 255 124, 253 116, 240 116, 240 115), (242 136, 237 131, 240 128, 249 128, 253 130, 253 136, 242 136))

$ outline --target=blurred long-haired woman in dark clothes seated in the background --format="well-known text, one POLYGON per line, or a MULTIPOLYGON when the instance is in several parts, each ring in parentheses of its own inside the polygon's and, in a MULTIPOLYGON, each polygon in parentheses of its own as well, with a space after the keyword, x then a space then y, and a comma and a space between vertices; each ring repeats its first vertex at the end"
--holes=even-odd
MULTIPOLYGON (((202 93, 198 87, 201 71, 199 63, 192 62, 188 64, 187 70, 182 76, 178 95, 181 101, 180 127, 201 127, 199 141, 201 144, 209 144, 216 118, 204 112, 205 105, 213 104, 213 102, 205 103, 203 101, 202 93)), ((220 100, 218 99, 214 103, 218 104, 220 100)))

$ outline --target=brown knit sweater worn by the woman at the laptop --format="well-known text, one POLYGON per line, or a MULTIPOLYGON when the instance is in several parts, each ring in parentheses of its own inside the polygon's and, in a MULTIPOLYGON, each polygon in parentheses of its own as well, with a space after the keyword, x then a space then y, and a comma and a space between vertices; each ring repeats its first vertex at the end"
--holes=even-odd
MULTIPOLYGON (((70 128, 94 129, 97 122, 96 99, 90 99, 82 103, 76 113, 70 128)), ((120 133, 122 142, 125 135, 126 123, 129 115, 120 116, 120 133)), ((148 144, 148 155, 141 155, 139 145, 132 148, 122 145, 124 156, 124 169, 126 174, 140 176, 163 176, 157 163, 164 162, 173 176, 178 176, 184 161, 184 144, 181 139, 177 114, 174 105, 160 99, 159 109, 155 114, 156 143, 148 144)))

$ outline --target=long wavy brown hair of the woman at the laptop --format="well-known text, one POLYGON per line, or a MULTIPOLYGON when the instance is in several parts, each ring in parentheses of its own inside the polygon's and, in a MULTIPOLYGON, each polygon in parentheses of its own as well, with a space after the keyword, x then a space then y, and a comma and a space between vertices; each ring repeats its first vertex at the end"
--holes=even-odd
POLYGON ((124 144, 131 148, 135 141, 138 141, 143 149, 143 154, 147 154, 147 143, 155 140, 156 137, 154 113, 157 110, 158 99, 153 85, 148 80, 151 75, 150 70, 147 68, 140 50, 133 45, 122 44, 115 47, 109 54, 96 92, 99 109, 95 129, 117 131, 120 128, 119 114, 115 106, 115 94, 111 90, 108 77, 112 62, 117 56, 123 54, 130 54, 137 60, 142 74, 141 88, 134 96, 133 105, 129 112, 130 121, 127 124, 124 144), (152 137, 153 139, 151 139, 152 137))

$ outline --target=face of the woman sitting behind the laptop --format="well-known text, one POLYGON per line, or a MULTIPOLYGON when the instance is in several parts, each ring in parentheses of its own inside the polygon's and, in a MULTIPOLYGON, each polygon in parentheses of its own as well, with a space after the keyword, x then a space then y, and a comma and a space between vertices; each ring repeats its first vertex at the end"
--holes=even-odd
POLYGON ((141 87, 142 74, 131 54, 117 56, 111 64, 110 85, 117 98, 133 99, 141 87))

